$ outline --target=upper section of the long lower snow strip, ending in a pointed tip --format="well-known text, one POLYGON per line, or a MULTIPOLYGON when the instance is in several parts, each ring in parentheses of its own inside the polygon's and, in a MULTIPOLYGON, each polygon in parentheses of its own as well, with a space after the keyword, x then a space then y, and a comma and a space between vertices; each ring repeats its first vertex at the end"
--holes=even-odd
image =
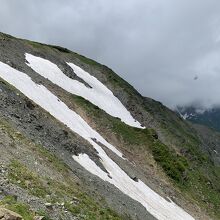
POLYGON ((93 130, 78 114, 70 110, 66 104, 60 101, 47 88, 33 82, 25 73, 0 62, 0 77, 15 86, 24 95, 86 140, 90 141, 91 138, 94 138, 123 158, 120 151, 93 130))

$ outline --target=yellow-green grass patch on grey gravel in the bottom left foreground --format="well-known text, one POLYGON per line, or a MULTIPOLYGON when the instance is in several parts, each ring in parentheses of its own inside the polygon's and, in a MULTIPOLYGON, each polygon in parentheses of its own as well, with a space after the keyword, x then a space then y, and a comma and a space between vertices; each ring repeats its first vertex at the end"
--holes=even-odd
MULTIPOLYGON (((47 200, 52 204, 64 202, 65 208, 75 216, 80 216, 81 219, 122 219, 111 209, 100 206, 100 204, 94 201, 94 199, 90 198, 85 193, 82 193, 74 182, 70 181, 66 184, 50 178, 44 179, 30 171, 18 161, 12 161, 10 165, 9 179, 13 184, 19 185, 28 190, 30 194, 39 198, 46 198, 46 195, 50 195, 50 199, 47 200), (47 182, 47 186, 44 182, 47 182), (73 197, 75 198, 74 201, 71 200, 73 197)), ((19 207, 24 208, 26 206, 19 207)), ((21 210, 19 213, 21 213, 21 210)))

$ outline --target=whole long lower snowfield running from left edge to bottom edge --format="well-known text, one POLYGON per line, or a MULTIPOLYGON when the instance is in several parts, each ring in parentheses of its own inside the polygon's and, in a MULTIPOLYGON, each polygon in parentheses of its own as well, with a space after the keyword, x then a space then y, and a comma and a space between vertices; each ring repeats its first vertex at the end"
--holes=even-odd
POLYGON ((16 87, 24 95, 33 100, 36 104, 48 111, 57 120, 67 125, 73 132, 76 132, 98 151, 101 162, 109 172, 111 178, 102 171, 88 155, 80 154, 73 156, 82 167, 117 187, 132 199, 140 202, 146 210, 159 220, 192 220, 194 219, 182 208, 173 202, 168 202, 160 195, 151 190, 142 181, 132 180, 99 146, 93 141, 96 138, 113 152, 122 156, 121 153, 104 138, 94 131, 78 114, 69 109, 65 103, 59 100, 43 85, 38 85, 25 73, 13 69, 12 67, 0 62, 0 77, 16 87))

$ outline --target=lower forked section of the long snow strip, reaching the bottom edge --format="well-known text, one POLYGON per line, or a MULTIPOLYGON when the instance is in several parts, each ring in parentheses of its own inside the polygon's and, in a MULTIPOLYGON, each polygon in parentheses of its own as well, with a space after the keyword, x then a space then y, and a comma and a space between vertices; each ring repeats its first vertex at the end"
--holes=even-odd
MULTIPOLYGON (((99 151, 99 146, 95 146, 99 151)), ((80 154, 73 156, 81 166, 88 170, 93 175, 100 177, 116 186, 123 193, 132 199, 140 202, 146 210, 159 220, 193 220, 194 218, 177 206, 170 200, 167 201, 159 194, 150 189, 142 181, 132 180, 114 161, 112 161, 105 153, 100 153, 101 162, 109 172, 111 178, 101 168, 99 168, 88 155, 80 154)))

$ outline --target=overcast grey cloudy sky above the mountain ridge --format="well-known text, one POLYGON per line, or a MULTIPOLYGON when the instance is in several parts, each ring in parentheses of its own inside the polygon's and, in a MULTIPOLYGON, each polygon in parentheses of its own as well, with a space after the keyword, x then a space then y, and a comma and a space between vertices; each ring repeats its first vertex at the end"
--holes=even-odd
POLYGON ((0 0, 0 31, 89 56, 167 106, 220 105, 219 0, 0 0))

